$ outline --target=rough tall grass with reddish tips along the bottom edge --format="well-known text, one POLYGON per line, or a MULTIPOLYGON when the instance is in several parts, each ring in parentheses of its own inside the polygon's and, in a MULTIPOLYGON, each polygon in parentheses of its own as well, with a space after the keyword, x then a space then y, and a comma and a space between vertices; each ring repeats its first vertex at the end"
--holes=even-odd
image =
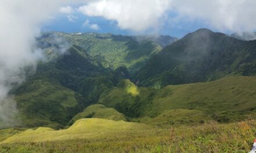
MULTIPOLYGON (((94 139, 1 144, 0 152, 248 152, 256 121, 105 133, 94 139)), ((40 138, 38 138, 40 139, 40 138)))

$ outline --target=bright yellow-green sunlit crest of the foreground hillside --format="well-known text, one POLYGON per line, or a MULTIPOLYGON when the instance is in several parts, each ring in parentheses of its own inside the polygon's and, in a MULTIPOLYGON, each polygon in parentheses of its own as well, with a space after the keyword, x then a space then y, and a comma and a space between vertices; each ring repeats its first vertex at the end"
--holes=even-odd
POLYGON ((104 134, 149 129, 154 129, 154 127, 142 123, 86 118, 76 121, 72 126, 70 126, 69 129, 65 130, 53 130, 51 128, 38 128, 36 130, 29 129, 9 137, 8 139, 2 141, 2 143, 99 139, 104 136, 104 134))

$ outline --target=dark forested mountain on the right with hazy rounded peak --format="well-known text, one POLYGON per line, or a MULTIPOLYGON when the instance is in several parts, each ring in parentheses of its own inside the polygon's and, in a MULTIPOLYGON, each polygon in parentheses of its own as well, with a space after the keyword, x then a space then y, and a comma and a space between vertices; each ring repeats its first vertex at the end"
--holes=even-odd
POLYGON ((133 77, 141 86, 214 81, 226 75, 254 75, 256 41, 241 41, 200 29, 166 46, 133 77))

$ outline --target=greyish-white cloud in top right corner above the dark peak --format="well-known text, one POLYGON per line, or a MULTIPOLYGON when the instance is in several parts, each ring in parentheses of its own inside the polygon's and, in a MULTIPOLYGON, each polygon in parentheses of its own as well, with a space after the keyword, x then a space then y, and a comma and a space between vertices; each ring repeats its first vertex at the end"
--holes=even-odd
MULTIPOLYGON (((180 17, 202 19, 213 28, 229 31, 256 30, 255 0, 173 0, 172 7, 180 17)), ((184 19, 184 18, 183 18, 184 19)))

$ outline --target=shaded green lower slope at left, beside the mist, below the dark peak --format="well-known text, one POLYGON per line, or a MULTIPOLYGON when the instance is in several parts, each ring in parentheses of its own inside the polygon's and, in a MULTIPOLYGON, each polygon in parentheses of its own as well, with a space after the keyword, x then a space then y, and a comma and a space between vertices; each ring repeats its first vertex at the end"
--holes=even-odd
POLYGON ((56 128, 66 125, 73 115, 81 111, 82 98, 73 90, 44 80, 27 83, 27 88, 15 97, 22 126, 56 128))

